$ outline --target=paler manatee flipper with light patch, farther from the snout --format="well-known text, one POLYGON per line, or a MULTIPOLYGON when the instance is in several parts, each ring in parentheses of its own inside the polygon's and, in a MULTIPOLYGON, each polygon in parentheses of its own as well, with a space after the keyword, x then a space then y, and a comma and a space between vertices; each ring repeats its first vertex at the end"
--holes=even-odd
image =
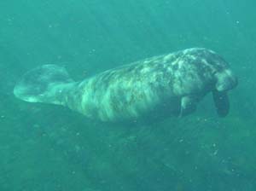
POLYGON ((193 96, 183 96, 181 98, 180 114, 179 117, 188 115, 189 113, 195 112, 196 109, 196 100, 193 96))

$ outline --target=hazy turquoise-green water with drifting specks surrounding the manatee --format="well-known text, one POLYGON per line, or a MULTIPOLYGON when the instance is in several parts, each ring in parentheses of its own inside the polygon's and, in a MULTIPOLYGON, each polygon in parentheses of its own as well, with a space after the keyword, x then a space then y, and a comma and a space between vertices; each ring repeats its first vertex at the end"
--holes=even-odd
POLYGON ((1 0, 0 191, 256 190, 256 2, 1 0), (108 124, 13 96, 24 72, 76 80, 153 55, 206 47, 239 84, 230 114, 211 96, 183 119, 108 124))

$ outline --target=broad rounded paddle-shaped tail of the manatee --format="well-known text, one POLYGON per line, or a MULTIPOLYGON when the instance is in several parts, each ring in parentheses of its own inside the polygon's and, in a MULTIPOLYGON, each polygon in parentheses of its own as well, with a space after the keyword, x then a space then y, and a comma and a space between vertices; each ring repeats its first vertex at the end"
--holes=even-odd
POLYGON ((63 95, 70 84, 73 79, 64 67, 44 65, 26 72, 15 85, 14 94, 23 101, 64 105, 63 95))

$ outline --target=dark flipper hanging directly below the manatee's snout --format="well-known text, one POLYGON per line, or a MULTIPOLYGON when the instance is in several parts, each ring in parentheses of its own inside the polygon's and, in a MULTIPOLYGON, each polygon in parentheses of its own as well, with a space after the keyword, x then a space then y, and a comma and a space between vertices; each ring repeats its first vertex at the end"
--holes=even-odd
POLYGON ((230 101, 226 91, 212 91, 213 101, 219 117, 225 117, 230 111, 230 101))

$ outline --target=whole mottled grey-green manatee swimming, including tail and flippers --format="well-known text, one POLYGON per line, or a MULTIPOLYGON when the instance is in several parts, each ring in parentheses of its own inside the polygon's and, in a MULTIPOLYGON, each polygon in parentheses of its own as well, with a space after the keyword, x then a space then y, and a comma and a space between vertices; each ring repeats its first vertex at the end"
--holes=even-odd
POLYGON ((212 92, 218 115, 229 113, 228 90, 237 80, 210 49, 192 48, 154 56, 99 73, 81 82, 63 67, 32 69, 15 85, 16 97, 69 107, 90 119, 134 120, 184 116, 212 92))

